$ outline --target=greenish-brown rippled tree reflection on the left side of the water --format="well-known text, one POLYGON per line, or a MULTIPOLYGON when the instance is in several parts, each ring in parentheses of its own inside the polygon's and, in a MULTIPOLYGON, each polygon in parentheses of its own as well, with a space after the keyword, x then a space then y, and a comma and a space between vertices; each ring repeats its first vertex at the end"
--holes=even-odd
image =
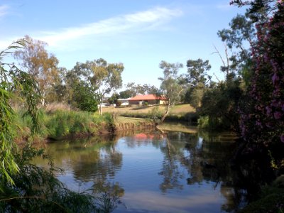
POLYGON ((71 170, 76 182, 93 182, 89 189, 93 193, 121 197, 124 189, 117 182, 109 182, 122 166, 122 153, 116 151, 116 141, 112 135, 57 141, 56 146, 47 147, 47 152, 53 156, 56 153, 55 165, 71 170))

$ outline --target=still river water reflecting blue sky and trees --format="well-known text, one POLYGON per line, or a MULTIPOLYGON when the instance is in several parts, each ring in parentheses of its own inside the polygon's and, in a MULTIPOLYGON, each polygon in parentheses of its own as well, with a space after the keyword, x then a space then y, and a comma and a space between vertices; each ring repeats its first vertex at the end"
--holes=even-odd
POLYGON ((114 212, 235 212, 243 207, 246 190, 236 187, 229 167, 234 135, 181 129, 57 141, 46 149, 65 170, 58 178, 68 188, 111 190, 119 196, 122 204, 114 212))

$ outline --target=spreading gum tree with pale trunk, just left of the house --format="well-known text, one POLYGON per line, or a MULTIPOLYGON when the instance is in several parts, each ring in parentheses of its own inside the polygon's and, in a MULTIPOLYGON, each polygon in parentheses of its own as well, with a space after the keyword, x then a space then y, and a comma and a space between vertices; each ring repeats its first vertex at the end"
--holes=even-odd
POLYGON ((102 102, 106 94, 122 86, 121 73, 124 71, 122 63, 108 64, 100 58, 85 63, 77 62, 72 72, 84 80, 96 95, 99 102, 99 114, 102 115, 102 102))

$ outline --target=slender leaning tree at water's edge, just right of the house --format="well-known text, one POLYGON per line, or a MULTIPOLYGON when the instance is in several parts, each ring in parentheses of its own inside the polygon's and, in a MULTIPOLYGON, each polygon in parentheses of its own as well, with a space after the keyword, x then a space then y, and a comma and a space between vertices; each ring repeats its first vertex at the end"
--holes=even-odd
POLYGON ((164 75, 158 78, 161 81, 160 90, 168 99, 167 109, 161 122, 165 120, 170 108, 180 101, 180 94, 185 90, 185 82, 182 81, 181 76, 178 76, 178 70, 182 67, 183 65, 180 63, 168 63, 163 60, 160 62, 160 68, 163 69, 164 75))

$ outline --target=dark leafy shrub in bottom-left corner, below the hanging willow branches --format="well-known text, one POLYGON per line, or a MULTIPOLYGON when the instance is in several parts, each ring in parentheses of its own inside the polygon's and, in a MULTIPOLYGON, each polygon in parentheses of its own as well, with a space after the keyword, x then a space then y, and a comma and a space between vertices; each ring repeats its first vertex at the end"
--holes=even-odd
POLYGON ((14 156, 19 173, 11 175, 13 185, 0 182, 0 212, 109 212, 114 209, 115 201, 110 196, 104 195, 113 201, 107 206, 103 203, 104 197, 68 190, 53 175, 63 171, 54 167, 43 149, 37 150, 27 145, 21 151, 16 151, 14 156), (49 168, 40 168, 31 163, 35 157, 48 159, 49 168))

